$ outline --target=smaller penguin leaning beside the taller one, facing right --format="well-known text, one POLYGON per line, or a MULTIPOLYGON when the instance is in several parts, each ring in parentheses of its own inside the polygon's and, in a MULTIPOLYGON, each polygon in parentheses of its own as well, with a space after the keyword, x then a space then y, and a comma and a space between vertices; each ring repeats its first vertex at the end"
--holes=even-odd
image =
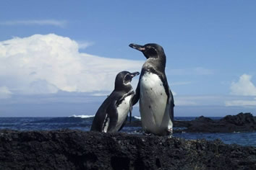
POLYGON ((139 72, 121 71, 116 75, 114 91, 98 108, 91 131, 114 133, 121 130, 127 122, 128 112, 130 112, 131 121, 132 97, 135 94, 131 81, 139 74, 139 72))

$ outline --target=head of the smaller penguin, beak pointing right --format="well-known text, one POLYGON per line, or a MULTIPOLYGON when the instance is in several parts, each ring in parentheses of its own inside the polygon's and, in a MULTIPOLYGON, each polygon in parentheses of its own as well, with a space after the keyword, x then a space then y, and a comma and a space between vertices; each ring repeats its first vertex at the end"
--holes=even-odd
POLYGON ((130 89, 132 87, 132 78, 139 74, 139 72, 130 73, 129 71, 121 71, 116 75, 115 90, 130 89))

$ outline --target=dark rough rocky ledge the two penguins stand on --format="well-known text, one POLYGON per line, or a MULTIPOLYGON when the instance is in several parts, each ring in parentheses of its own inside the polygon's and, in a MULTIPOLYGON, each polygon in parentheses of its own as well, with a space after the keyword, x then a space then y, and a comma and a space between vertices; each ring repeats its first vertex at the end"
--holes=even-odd
POLYGON ((0 169, 256 169, 256 148, 80 130, 0 130, 0 169))

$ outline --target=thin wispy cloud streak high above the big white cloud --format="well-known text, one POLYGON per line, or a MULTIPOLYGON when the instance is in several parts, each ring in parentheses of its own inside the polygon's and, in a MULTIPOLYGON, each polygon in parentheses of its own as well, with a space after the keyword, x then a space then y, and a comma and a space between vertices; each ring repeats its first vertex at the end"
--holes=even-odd
POLYGON ((55 20, 55 19, 41 19, 41 20, 19 20, 19 21, 7 21, 0 22, 0 25, 52 25, 56 27, 64 27, 67 24, 67 21, 64 20, 55 20))

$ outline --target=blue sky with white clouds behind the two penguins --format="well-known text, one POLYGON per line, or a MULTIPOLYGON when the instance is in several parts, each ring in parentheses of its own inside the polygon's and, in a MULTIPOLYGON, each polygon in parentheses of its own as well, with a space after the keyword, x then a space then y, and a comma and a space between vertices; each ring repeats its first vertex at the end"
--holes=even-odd
POLYGON ((0 116, 94 115, 116 73, 140 71, 145 58, 131 42, 163 46, 176 116, 255 115, 255 7, 255 1, 1 1, 0 116))

